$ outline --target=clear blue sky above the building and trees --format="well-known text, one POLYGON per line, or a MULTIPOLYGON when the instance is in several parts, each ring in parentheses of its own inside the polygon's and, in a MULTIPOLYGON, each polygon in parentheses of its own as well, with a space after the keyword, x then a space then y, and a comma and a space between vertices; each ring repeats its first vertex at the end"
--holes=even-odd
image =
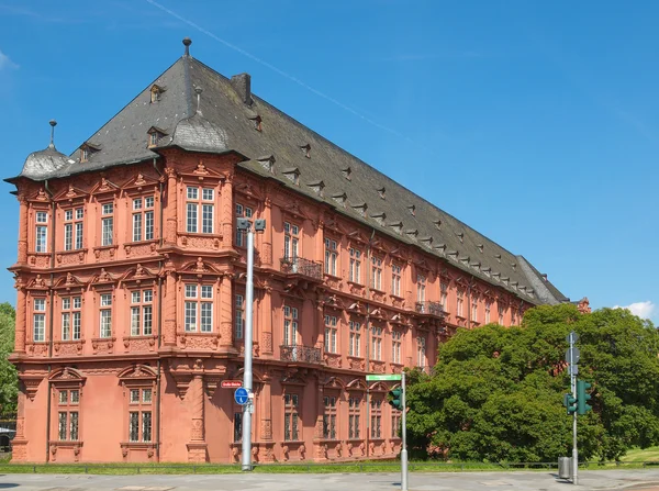
MULTIPOLYGON (((69 153, 177 57, 253 91, 515 254, 659 321, 659 3, 0 0, 2 176, 69 153), (168 12, 169 10, 169 12, 168 12)), ((0 264, 18 204, 0 186, 0 264)), ((0 301, 15 301, 0 272, 0 301)))

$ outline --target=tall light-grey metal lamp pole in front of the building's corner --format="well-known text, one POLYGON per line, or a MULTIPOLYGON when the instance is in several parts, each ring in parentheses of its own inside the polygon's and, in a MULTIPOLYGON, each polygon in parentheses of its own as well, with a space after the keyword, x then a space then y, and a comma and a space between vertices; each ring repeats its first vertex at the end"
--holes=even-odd
POLYGON ((254 232, 247 231, 247 286, 245 287, 245 370, 243 387, 249 399, 243 405, 243 470, 252 470, 252 308, 254 304, 254 232))

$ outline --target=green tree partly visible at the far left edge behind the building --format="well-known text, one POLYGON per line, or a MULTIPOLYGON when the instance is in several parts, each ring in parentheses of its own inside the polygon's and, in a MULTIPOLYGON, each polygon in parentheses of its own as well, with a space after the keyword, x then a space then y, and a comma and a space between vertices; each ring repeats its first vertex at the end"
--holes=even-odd
POLYGON ((16 410, 19 378, 9 362, 14 347, 15 311, 10 303, 0 303, 0 412, 16 410))

